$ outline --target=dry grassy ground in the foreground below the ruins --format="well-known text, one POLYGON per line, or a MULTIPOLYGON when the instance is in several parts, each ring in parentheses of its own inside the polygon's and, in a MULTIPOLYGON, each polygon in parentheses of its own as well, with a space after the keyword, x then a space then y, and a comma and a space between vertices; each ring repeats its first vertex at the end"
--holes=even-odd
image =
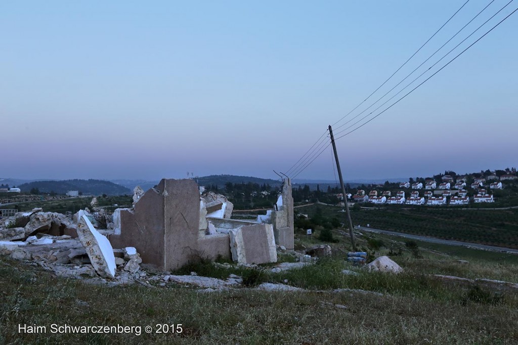
MULTIPOLYGON (((350 243, 334 230, 333 256, 314 266, 272 274, 264 265, 256 282, 285 282, 309 292, 261 292, 243 287, 200 294, 189 287, 107 287, 55 278, 41 269, 0 257, 0 343, 92 344, 513 344, 518 341, 518 295, 444 285, 429 274, 518 282, 518 256, 423 243, 418 253, 401 238, 363 234, 358 247, 378 256, 390 251, 405 272, 368 272, 344 261, 350 243), (369 243, 376 240, 378 248, 369 243), (418 255, 416 255, 418 254, 418 255), (458 260, 467 260, 461 263, 458 260), (347 268, 359 276, 341 274, 347 268), (364 289, 383 296, 332 292, 364 289), (48 333, 23 334, 19 324, 47 326, 48 333), (141 326, 140 335, 50 334, 50 325, 141 326), (157 324, 182 324, 182 333, 156 334, 157 324), (151 325, 152 334, 143 327, 151 325)), ((296 235, 297 246, 321 243, 296 235)), ((289 254, 281 259, 290 261, 289 254)), ((193 264, 178 273, 243 277, 249 268, 193 264)), ((152 280, 150 280, 152 281, 152 280)), ((253 285, 253 284, 252 284, 253 285)), ((163 327, 162 327, 163 328, 163 327)))

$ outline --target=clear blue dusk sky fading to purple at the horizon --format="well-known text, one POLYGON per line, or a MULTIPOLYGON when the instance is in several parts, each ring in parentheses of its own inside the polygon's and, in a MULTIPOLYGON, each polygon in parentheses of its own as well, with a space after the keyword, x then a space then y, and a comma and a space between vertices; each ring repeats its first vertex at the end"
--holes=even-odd
MULTIPOLYGON (((189 171, 277 179, 276 170, 333 180, 330 146, 305 169, 296 163, 464 3, 0 2, 0 177, 157 180, 189 171)), ((469 1, 333 128, 394 87, 489 3, 469 1)), ((416 74, 335 133, 507 3, 495 0, 416 74)), ((517 7, 511 2, 371 116, 517 7)), ((419 89, 337 139, 344 179, 518 165, 517 33, 515 13, 419 89)))

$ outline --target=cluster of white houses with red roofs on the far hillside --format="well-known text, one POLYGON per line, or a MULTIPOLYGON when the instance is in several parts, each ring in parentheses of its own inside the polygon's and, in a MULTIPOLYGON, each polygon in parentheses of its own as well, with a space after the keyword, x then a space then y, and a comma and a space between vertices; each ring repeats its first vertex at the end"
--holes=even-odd
MULTIPOLYGON (((473 183, 470 184, 471 189, 476 191, 473 196, 475 203, 493 203, 495 200, 493 194, 488 194, 485 188, 491 190, 502 189, 501 180, 516 180, 518 176, 507 174, 500 177, 490 175, 486 177, 475 177, 473 183), (494 181, 494 182, 493 182, 494 181)), ((395 196, 390 191, 383 191, 378 195, 378 191, 370 191, 367 195, 364 190, 358 190, 352 196, 354 202, 372 203, 372 204, 396 204, 396 205, 447 205, 448 200, 450 205, 467 205, 470 201, 468 197, 467 181, 468 176, 456 176, 454 178, 450 175, 441 177, 442 182, 437 185, 433 178, 425 179, 425 184, 422 182, 410 183, 401 182, 399 188, 412 189, 410 195, 406 198, 405 191, 399 191, 395 196), (419 190, 424 189, 424 196, 420 195, 419 190)))

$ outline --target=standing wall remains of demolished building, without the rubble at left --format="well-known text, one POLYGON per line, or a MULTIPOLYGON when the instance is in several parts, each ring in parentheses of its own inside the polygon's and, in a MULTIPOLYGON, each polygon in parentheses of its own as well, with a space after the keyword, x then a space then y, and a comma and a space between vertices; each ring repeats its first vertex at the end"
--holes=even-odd
POLYGON ((242 264, 276 262, 276 246, 293 249, 289 180, 284 181, 269 222, 233 220, 234 206, 228 199, 212 192, 200 196, 199 191, 191 179, 162 179, 139 195, 133 209, 116 210, 111 245, 133 246, 143 263, 164 270, 178 269, 196 258, 226 258, 242 264))

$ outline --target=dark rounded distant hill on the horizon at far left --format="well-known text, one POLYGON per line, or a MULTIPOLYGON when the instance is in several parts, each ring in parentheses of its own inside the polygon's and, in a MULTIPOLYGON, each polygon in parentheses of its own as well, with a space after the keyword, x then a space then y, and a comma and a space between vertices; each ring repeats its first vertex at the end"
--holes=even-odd
POLYGON ((18 186, 22 192, 30 192, 37 188, 40 193, 54 192, 66 194, 68 191, 79 191, 86 195, 124 195, 133 192, 116 183, 103 180, 62 180, 62 181, 34 181, 23 183, 18 186))

